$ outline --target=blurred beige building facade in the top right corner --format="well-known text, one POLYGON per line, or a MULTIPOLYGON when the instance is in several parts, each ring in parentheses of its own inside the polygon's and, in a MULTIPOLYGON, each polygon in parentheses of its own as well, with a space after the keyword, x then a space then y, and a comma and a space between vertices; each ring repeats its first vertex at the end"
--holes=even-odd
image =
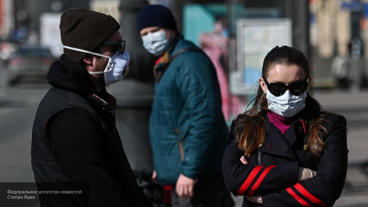
POLYGON ((360 39, 366 47, 367 8, 367 0, 311 0, 311 44, 318 55, 348 55, 348 44, 353 38, 360 39))

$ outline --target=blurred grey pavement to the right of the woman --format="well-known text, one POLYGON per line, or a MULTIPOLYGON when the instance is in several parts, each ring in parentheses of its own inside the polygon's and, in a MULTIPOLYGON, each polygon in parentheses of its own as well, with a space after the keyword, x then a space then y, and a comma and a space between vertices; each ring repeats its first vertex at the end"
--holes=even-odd
POLYGON ((368 206, 368 165, 365 168, 360 165, 368 161, 368 91, 335 90, 316 92, 315 96, 327 110, 347 119, 349 167, 343 194, 335 206, 368 206))

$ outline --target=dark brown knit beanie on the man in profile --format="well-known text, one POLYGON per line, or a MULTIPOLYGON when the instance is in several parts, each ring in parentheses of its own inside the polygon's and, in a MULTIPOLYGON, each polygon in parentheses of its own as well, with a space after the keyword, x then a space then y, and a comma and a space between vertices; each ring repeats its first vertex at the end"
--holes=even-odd
MULTIPOLYGON (((110 15, 85 8, 72 8, 60 18, 61 42, 64 46, 92 51, 109 36, 120 29, 120 25, 110 15)), ((66 58, 80 61, 87 53, 64 48, 66 58)))

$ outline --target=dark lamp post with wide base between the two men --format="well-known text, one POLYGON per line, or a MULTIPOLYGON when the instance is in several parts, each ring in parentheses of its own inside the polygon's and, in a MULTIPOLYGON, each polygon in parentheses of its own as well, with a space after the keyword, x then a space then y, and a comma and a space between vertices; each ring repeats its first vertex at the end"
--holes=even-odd
MULTIPOLYGON (((155 57, 142 44, 137 29, 137 15, 147 6, 146 0, 120 1, 121 36, 130 54, 129 72, 123 81, 109 87, 118 103, 117 117, 121 140, 133 170, 153 169, 152 151, 148 136, 148 121, 153 99, 152 68, 155 57)), ((109 92, 110 92, 109 91, 109 92)))

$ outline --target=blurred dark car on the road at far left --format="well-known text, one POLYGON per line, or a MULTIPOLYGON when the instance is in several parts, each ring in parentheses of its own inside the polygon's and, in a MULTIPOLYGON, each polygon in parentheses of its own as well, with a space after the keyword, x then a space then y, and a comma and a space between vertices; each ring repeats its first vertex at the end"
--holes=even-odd
POLYGON ((45 78, 54 58, 46 47, 20 47, 9 61, 8 83, 22 78, 45 78))

